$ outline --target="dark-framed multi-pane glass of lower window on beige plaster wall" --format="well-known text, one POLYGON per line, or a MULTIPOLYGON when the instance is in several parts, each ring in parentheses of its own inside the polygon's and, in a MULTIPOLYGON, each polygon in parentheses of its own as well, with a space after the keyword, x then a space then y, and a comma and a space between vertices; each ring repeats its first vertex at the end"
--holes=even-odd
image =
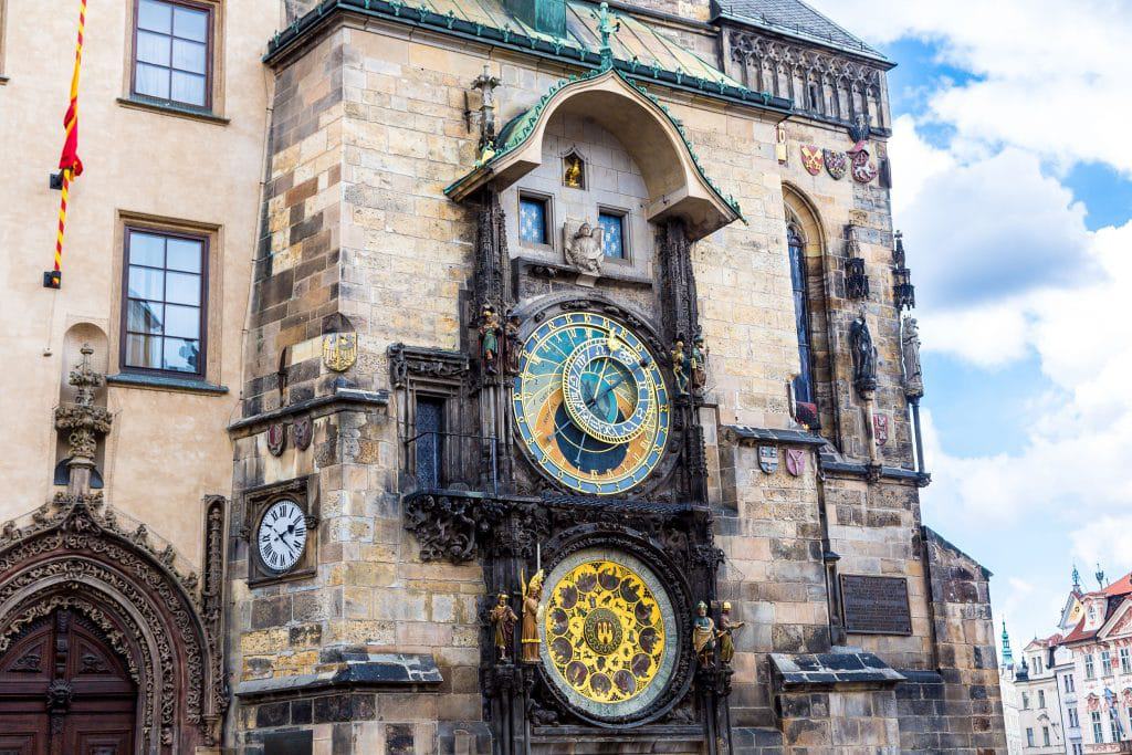
POLYGON ((126 229, 122 367, 204 375, 203 237, 126 229))

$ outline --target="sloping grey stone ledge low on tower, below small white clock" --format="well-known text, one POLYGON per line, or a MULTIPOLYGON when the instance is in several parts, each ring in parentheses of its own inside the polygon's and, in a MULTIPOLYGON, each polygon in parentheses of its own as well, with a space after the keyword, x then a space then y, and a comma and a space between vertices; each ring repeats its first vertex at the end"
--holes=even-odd
POLYGON ((444 681, 436 659, 423 653, 342 653, 342 661, 318 674, 241 681, 235 696, 297 697, 327 689, 404 689, 435 687, 444 681))

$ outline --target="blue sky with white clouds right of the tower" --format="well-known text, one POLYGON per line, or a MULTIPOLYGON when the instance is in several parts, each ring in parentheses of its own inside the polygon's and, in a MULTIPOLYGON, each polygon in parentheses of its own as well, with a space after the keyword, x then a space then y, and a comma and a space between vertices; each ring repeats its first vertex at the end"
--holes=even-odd
POLYGON ((996 628, 1020 647, 1055 630, 1074 563, 1087 590, 1098 560, 1132 569, 1132 3, 812 5, 899 63, 924 520, 994 572, 996 628))

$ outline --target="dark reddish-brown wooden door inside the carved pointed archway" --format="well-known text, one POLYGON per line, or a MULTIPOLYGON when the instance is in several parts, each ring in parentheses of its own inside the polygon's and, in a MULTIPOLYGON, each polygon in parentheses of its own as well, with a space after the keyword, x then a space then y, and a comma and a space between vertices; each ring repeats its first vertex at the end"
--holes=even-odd
POLYGON ((105 636, 57 609, 0 655, 0 755, 134 753, 137 685, 105 636))

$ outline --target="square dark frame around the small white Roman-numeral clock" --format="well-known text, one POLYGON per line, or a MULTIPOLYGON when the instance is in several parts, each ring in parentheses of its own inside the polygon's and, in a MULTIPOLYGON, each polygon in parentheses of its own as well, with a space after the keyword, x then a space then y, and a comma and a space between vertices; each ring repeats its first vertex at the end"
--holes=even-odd
POLYGON ((319 499, 317 474, 273 482, 243 492, 243 525, 240 529, 248 546, 248 587, 264 587, 284 582, 308 580, 318 572, 319 499), (267 568, 259 556, 256 531, 267 509, 280 500, 293 500, 307 520, 307 542, 300 558, 288 572, 278 574, 267 568))

